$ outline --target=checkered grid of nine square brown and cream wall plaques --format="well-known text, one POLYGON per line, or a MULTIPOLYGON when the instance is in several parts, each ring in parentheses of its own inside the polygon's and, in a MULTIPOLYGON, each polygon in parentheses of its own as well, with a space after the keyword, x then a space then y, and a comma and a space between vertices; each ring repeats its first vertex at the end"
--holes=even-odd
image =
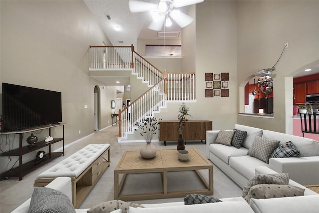
POLYGON ((205 73, 205 81, 206 88, 205 89, 205 97, 229 97, 229 89, 228 89, 228 81, 229 81, 229 73, 221 72, 221 73, 205 73))

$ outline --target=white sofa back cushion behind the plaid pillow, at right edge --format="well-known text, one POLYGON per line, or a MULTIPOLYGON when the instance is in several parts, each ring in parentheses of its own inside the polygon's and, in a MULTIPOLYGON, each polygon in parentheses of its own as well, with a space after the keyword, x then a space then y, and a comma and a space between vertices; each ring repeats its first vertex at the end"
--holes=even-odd
POLYGON ((282 141, 281 144, 291 141, 300 151, 301 157, 319 156, 319 142, 309 138, 303 138, 295 135, 289 135, 270 130, 263 131, 263 138, 282 141))

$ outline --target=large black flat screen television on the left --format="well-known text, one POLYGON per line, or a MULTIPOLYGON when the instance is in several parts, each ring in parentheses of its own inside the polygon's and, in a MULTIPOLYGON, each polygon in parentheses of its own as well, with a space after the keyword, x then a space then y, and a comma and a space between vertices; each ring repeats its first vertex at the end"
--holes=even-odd
POLYGON ((61 121, 61 92, 2 83, 1 132, 61 121))

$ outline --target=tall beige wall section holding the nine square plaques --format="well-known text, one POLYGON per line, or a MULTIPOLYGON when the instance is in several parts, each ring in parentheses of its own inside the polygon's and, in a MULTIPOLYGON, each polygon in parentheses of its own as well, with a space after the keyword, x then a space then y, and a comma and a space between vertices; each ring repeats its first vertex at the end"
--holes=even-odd
MULTIPOLYGON (((236 115, 238 113, 236 107, 236 1, 204 1, 196 4, 195 45, 197 103, 189 104, 190 114, 195 119, 212 120, 214 130, 232 129, 237 123, 236 115), (205 72, 229 73, 229 97, 205 97, 205 72)), ((190 60, 189 63, 193 62, 190 60)))

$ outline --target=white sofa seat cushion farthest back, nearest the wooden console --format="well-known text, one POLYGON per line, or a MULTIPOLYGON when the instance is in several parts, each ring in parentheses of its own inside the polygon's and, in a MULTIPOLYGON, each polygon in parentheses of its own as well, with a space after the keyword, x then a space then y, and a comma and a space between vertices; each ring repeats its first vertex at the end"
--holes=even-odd
POLYGON ((240 147, 236 149, 233 146, 225 146, 222 144, 210 144, 209 151, 224 161, 226 164, 229 164, 229 158, 233 156, 247 156, 248 149, 245 147, 240 147))

